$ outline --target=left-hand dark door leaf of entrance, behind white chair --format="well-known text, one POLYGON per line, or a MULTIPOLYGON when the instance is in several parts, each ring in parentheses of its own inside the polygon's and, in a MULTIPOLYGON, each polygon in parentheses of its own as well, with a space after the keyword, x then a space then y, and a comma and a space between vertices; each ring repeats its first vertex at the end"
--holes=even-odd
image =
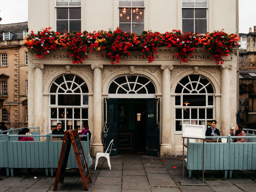
POLYGON ((108 129, 108 138, 104 138, 104 152, 108 148, 111 140, 114 139, 110 156, 117 155, 117 99, 105 98, 104 122, 108 129))

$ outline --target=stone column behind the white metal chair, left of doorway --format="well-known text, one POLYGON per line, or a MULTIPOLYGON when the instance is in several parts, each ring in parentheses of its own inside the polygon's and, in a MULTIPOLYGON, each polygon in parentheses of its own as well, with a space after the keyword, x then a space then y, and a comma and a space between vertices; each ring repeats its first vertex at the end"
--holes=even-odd
POLYGON ((91 156, 96 156, 98 152, 103 152, 102 145, 102 77, 101 69, 103 65, 91 65, 94 70, 94 81, 93 81, 93 144, 91 145, 91 156))

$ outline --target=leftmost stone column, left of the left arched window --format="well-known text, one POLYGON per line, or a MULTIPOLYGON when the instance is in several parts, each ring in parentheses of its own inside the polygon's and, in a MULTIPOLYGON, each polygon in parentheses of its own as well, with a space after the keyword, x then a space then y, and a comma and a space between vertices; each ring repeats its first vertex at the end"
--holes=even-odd
POLYGON ((43 133, 43 64, 32 65, 34 69, 34 126, 43 133))

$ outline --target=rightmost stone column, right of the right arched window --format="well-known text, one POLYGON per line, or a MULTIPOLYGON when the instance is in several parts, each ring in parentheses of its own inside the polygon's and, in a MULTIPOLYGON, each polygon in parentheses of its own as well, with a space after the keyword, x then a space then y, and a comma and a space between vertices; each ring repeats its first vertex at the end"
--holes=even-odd
MULTIPOLYGON (((220 65, 222 69, 221 78, 221 123, 220 134, 226 136, 230 129, 230 75, 229 70, 232 70, 231 65, 220 65)), ((217 124, 218 126, 218 124, 217 124)), ((220 127, 219 126, 219 127, 220 127)))

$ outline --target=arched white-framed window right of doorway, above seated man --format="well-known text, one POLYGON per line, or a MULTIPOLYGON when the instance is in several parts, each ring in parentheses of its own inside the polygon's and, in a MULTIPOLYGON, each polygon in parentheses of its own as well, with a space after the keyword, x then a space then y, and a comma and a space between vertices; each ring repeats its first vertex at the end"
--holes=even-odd
POLYGON ((206 125, 214 119, 214 90, 201 75, 188 75, 178 82, 175 89, 176 131, 182 123, 206 125))

